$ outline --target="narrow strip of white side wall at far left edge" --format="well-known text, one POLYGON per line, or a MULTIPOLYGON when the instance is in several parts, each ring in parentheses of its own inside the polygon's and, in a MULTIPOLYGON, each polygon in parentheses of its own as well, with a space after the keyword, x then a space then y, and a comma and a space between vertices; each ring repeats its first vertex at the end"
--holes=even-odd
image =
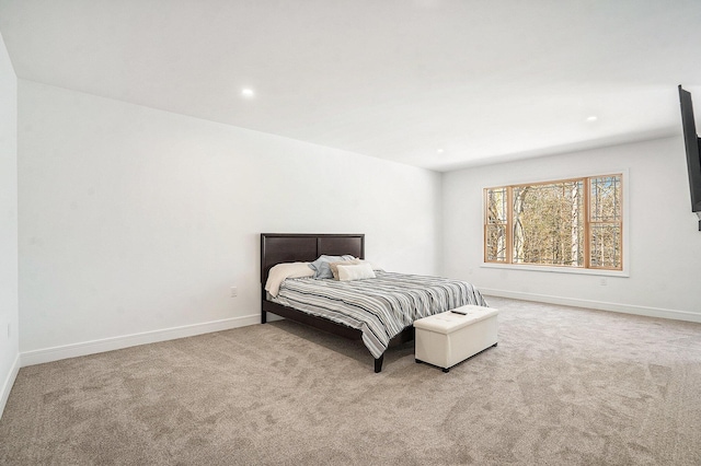
POLYGON ((19 364, 18 79, 0 36, 0 416, 19 364))

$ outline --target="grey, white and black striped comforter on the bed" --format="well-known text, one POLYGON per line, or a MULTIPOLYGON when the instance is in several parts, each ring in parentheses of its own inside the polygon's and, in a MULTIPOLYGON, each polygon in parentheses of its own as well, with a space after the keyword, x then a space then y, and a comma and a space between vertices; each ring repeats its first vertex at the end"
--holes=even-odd
POLYGON ((376 270, 377 278, 335 281, 287 279, 274 301, 363 331, 375 358, 414 321, 466 304, 486 306, 470 283, 376 270))

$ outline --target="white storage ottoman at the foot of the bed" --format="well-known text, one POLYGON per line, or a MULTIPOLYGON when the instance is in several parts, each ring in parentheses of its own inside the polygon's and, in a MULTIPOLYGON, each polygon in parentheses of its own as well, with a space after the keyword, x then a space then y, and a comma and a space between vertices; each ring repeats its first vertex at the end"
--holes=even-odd
POLYGON ((467 305, 420 318, 416 328, 416 362, 427 362, 448 372, 490 347, 495 347, 496 316, 493 307, 467 305))

